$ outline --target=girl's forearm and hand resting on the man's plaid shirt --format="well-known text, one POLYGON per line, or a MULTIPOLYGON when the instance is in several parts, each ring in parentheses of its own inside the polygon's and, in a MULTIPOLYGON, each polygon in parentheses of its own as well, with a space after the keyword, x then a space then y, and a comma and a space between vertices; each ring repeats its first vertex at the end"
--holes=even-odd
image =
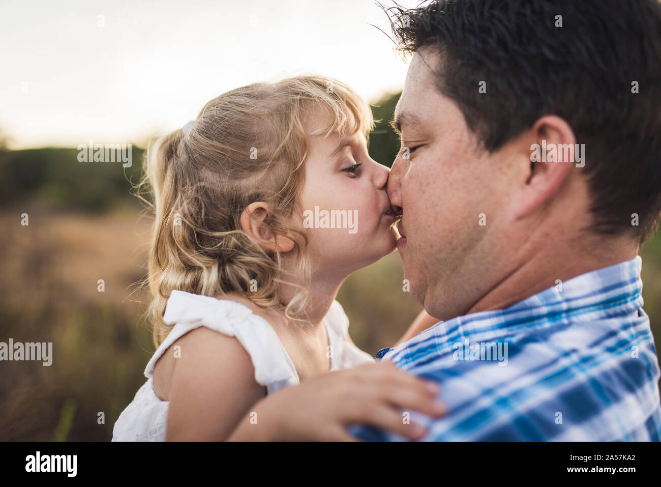
POLYGON ((229 441, 356 441, 352 423, 420 439, 424 428, 403 421, 403 411, 439 417, 440 386, 400 371, 391 361, 334 371, 284 388, 257 402, 229 441))

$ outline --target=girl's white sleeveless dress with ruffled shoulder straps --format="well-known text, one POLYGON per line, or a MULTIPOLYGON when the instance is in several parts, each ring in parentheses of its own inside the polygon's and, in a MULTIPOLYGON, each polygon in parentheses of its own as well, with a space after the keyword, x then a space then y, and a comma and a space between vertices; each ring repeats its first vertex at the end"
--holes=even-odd
MULTIPOLYGON (((145 382, 120 414, 112 430, 112 441, 165 441, 168 401, 153 388, 154 366, 173 342, 199 326, 236 337, 253 361, 254 378, 268 394, 299 383, 287 351, 270 324, 247 306, 231 301, 174 290, 167 301, 163 320, 174 324, 145 368, 145 382)), ((342 305, 333 301, 323 320, 331 345, 331 370, 348 369, 374 362, 368 353, 345 341, 349 319, 342 305)))

